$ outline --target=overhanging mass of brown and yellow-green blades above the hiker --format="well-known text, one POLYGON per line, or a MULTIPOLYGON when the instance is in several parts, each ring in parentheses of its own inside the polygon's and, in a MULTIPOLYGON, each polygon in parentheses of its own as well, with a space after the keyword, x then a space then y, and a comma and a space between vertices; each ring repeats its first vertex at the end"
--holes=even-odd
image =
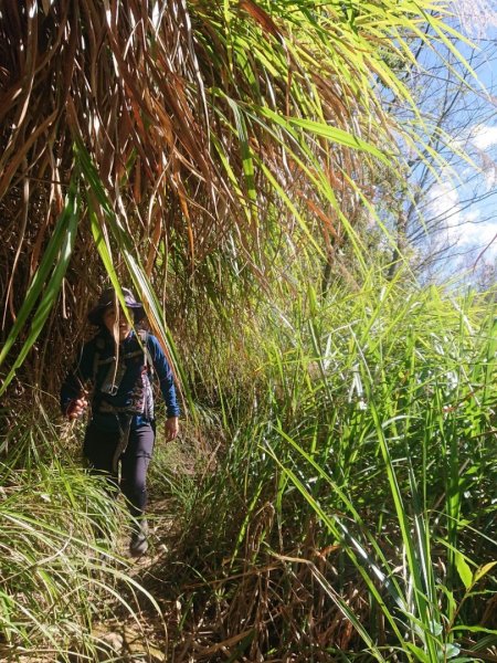
MULTIPOLYGON (((6 2, 6 319, 15 317, 64 208, 77 141, 97 168, 127 251, 141 256, 135 285, 152 274, 163 283, 171 264, 176 275, 201 274, 207 256, 224 248, 239 272, 261 266, 276 221, 283 232, 297 221, 318 238, 316 221, 329 254, 353 229, 361 208, 355 188, 367 192, 371 169, 395 158, 379 88, 413 104, 389 59, 409 63, 426 22, 443 38, 436 9, 429 0, 6 2)), ((102 223, 112 236, 108 219, 102 223)), ((86 224, 81 233, 70 311, 88 288, 82 274, 92 235, 86 224)), ((129 264, 115 234, 110 242, 123 275, 129 264)), ((95 260, 91 280, 94 273, 95 260)))

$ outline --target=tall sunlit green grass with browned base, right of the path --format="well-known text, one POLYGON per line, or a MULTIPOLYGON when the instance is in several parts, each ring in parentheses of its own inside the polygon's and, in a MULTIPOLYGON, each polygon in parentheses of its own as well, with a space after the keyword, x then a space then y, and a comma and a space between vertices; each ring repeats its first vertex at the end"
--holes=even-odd
POLYGON ((218 386, 231 441, 175 552, 184 604, 215 615, 202 655, 495 655, 488 299, 371 278, 325 302, 309 287, 286 325, 263 308, 244 329, 244 407, 218 386))

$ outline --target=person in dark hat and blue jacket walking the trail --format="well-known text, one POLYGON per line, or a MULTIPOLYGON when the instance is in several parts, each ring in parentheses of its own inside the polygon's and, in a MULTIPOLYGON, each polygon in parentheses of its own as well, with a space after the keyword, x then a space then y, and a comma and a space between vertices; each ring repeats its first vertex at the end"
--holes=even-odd
MULTIPOLYGON (((144 306, 121 290, 137 325, 145 318, 144 306)), ((117 486, 120 463, 120 490, 134 518, 129 550, 138 557, 148 549, 147 470, 156 436, 151 381, 157 376, 166 402, 168 441, 179 429, 175 381, 159 341, 131 328, 113 288, 102 293, 88 320, 98 332, 83 346, 61 387, 61 408, 74 420, 91 406, 83 452, 93 472, 117 486)))

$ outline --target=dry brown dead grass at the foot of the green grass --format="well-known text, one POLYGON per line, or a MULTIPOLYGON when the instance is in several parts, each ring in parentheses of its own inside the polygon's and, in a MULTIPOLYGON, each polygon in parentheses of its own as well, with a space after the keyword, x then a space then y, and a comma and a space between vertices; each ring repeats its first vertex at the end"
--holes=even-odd
MULTIPOLYGON (((178 613, 169 613, 175 661, 231 657, 251 663, 325 663, 335 660, 334 652, 360 651, 361 640, 341 606, 364 623, 371 619, 371 607, 366 587, 347 564, 341 546, 317 548, 322 533, 313 519, 298 549, 276 552, 268 548, 274 528, 274 507, 267 503, 248 524, 241 558, 224 560, 222 577, 220 568, 213 578, 209 561, 202 565, 197 559, 197 571, 205 573, 205 581, 182 585, 181 575, 176 578, 180 587, 178 613)), ((292 539, 290 533, 286 536, 292 539)), ((187 565, 192 541, 184 541, 186 549, 175 550, 176 557, 184 552, 182 561, 187 565)), ((168 565, 166 558, 157 568, 168 565)), ((191 578, 188 570, 186 577, 191 578)))

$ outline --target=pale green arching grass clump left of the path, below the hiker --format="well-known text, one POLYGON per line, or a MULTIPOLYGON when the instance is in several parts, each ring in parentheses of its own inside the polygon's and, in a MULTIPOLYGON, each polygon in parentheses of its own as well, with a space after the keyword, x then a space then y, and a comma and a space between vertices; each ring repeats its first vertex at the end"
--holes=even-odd
POLYGON ((138 622, 140 597, 160 614, 119 554, 124 505, 71 460, 67 433, 39 407, 1 439, 2 661, 116 660, 96 623, 138 622))

